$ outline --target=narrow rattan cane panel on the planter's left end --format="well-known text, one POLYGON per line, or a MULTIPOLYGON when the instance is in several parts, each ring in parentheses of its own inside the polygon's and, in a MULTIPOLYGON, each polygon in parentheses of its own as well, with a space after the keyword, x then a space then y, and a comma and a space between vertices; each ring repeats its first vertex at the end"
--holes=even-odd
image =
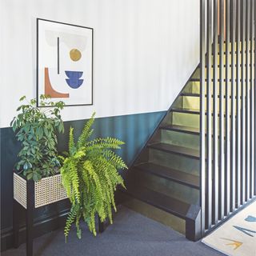
POLYGON ((26 209, 26 180, 15 173, 14 199, 26 209))

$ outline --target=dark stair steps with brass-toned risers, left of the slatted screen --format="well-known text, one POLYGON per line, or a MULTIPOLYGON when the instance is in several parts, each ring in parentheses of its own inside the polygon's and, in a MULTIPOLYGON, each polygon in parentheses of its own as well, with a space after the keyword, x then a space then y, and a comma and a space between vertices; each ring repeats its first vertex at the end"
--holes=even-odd
POLYGON ((128 170, 124 205, 196 240, 199 221, 200 69, 128 170))

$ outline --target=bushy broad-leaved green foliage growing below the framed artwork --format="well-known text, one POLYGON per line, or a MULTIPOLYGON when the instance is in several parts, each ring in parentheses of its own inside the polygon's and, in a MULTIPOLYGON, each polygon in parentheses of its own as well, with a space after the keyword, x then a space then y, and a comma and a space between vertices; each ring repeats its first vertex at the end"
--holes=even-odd
POLYGON ((22 172, 27 179, 33 178, 38 182, 42 177, 56 174, 60 166, 57 153, 57 136, 64 132, 64 126, 60 110, 64 102, 51 102, 50 98, 40 96, 40 106, 36 106, 36 100, 26 100, 26 96, 20 98, 25 104, 18 107, 20 112, 10 123, 19 142, 22 142, 22 150, 18 153, 20 158, 15 168, 22 172))

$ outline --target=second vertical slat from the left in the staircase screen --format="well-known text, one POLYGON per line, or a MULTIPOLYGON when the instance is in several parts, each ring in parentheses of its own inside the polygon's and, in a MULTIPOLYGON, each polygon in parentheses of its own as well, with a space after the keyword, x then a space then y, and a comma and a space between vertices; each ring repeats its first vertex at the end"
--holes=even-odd
MULTIPOLYGON (((207 206, 207 218, 206 218, 206 229, 209 229, 212 224, 212 72, 211 72, 211 59, 212 59, 212 0, 207 0, 207 82, 206 82, 206 92, 207 92, 207 111, 206 111, 206 206, 207 206)), ((203 97, 203 96, 202 96, 203 97)))

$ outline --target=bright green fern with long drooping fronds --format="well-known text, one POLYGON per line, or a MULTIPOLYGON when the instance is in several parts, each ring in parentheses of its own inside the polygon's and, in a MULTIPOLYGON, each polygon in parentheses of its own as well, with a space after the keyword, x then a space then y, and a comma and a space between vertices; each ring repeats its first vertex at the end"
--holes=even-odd
POLYGON ((118 185, 125 188, 118 170, 124 170, 127 166, 114 152, 124 142, 117 138, 89 140, 94 131, 91 129, 94 115, 86 122, 77 142, 74 142, 74 130, 70 127, 69 152, 66 158, 61 157, 62 184, 71 202, 64 229, 65 238, 72 224, 77 228, 78 238, 81 238, 81 219, 86 222, 90 232, 96 235, 95 214, 98 214, 101 222, 109 218, 112 224, 112 207, 117 210, 114 191, 118 185))

